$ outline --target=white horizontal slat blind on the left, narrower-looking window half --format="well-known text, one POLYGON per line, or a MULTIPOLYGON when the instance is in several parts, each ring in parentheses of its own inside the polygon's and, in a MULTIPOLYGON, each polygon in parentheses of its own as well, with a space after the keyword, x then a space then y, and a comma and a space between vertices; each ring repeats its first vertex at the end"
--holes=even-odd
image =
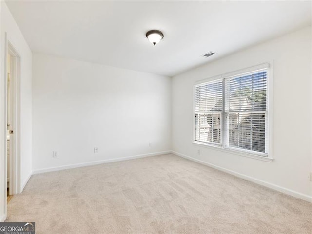
POLYGON ((195 86, 195 141, 221 143, 222 80, 195 86))

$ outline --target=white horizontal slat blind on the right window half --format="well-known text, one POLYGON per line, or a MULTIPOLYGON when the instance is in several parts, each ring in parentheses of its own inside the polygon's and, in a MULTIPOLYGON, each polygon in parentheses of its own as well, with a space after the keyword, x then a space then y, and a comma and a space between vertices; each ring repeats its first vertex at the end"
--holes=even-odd
POLYGON ((267 153, 267 70, 225 78, 228 146, 267 153))

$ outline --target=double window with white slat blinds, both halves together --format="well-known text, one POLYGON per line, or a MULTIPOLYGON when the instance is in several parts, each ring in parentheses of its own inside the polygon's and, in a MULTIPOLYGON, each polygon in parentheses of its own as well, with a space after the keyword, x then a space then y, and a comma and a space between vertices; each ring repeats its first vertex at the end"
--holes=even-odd
POLYGON ((268 156, 268 65, 195 85, 195 142, 268 156))

